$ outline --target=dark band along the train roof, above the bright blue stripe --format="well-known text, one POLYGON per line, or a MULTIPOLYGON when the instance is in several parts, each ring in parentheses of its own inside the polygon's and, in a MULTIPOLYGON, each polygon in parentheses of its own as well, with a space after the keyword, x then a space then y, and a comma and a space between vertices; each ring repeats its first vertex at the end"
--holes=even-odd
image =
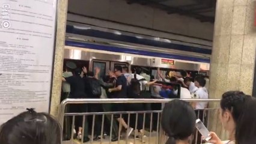
POLYGON ((72 25, 67 25, 66 32, 71 34, 87 35, 90 37, 105 38, 107 40, 116 40, 116 41, 124 41, 127 43, 142 44, 145 46, 163 47, 166 49, 183 50, 186 52, 196 52, 196 53, 203 53, 208 55, 212 54, 211 49, 203 49, 201 47, 184 46, 182 44, 165 43, 162 41, 141 39, 141 38, 136 38, 129 35, 116 35, 116 34, 113 34, 112 32, 103 32, 95 29, 78 29, 78 28, 74 28, 74 26, 72 25))

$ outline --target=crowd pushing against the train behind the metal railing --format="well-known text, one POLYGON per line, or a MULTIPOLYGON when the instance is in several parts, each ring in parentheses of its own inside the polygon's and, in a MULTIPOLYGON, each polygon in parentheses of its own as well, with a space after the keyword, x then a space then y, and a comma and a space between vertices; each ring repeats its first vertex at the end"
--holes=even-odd
MULTIPOLYGON (((63 73, 63 88, 62 98, 208 98, 208 92, 205 87, 206 80, 204 77, 195 77, 195 81, 192 82, 190 77, 186 77, 186 73, 175 73, 172 71, 171 75, 166 72, 166 77, 163 77, 159 68, 157 69, 158 75, 163 79, 163 84, 156 83, 154 77, 145 73, 145 70, 141 67, 136 67, 133 70, 129 70, 128 67, 121 67, 115 65, 114 71, 109 71, 108 76, 99 76, 100 68, 95 68, 93 71, 87 71, 87 68, 81 69, 76 67, 73 62, 66 63, 66 71, 63 73), (167 83, 167 84, 166 84, 167 83), (175 83, 175 85, 169 85, 168 83, 175 83), (179 84, 179 85, 177 85, 179 84), (181 86, 181 87, 180 87, 181 86), (178 94, 178 91, 180 93, 178 94)), ((192 106, 195 109, 204 109, 207 107, 207 103, 193 103, 192 106)), ((125 112, 125 111, 145 111, 145 110, 160 110, 161 106, 157 104, 141 104, 141 103, 117 103, 111 104, 72 104, 68 107, 67 112, 125 112)), ((203 111, 198 111, 198 115, 203 119, 203 111)), ((136 129, 139 131, 139 136, 143 141, 145 135, 143 130, 143 114, 138 114, 136 121, 136 115, 130 115, 130 123, 127 124, 126 115, 114 115, 113 130, 112 130, 112 142, 118 140, 118 134, 120 130, 117 127, 117 123, 121 125, 127 132, 127 136, 136 129), (128 126, 129 125, 129 126, 128 126)), ((149 115, 146 115, 148 119, 149 115)), ((106 118, 106 130, 105 134, 110 134, 109 127, 111 125, 111 118, 106 118)), ((153 129, 156 129, 157 115, 153 116, 153 129)), ((89 121, 84 125, 84 142, 88 142, 88 131, 91 128, 91 119, 88 116, 89 121), (90 125, 90 127, 88 127, 90 125)), ((100 132, 102 127, 101 117, 96 115, 94 122, 94 137, 93 140, 100 140, 100 132)), ((72 120, 66 119, 65 122, 64 138, 70 139, 71 137, 71 125, 72 120)), ((146 127, 150 122, 146 122, 146 127)), ((82 116, 76 116, 75 119, 75 133, 78 139, 82 139, 82 116)))

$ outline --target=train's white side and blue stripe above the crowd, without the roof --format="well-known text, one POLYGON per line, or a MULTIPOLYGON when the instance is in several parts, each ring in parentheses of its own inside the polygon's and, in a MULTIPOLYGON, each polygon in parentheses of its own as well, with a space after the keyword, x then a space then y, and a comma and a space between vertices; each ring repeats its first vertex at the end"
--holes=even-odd
MULTIPOLYGON (((64 51, 64 64, 66 61, 73 61, 78 67, 87 67, 94 71, 95 67, 101 69, 100 77, 113 71, 115 65, 127 66, 132 71, 136 67, 142 67, 147 74, 157 78, 157 68, 162 74, 166 71, 187 71, 191 77, 198 74, 207 76, 209 73, 209 63, 197 61, 184 61, 181 59, 169 59, 165 56, 157 55, 155 52, 145 52, 145 54, 131 54, 129 50, 120 47, 106 46, 103 44, 84 43, 82 41, 66 41, 64 51)), ((136 51, 133 51, 136 53, 136 51)), ((164 54, 171 55, 171 54, 164 54)))

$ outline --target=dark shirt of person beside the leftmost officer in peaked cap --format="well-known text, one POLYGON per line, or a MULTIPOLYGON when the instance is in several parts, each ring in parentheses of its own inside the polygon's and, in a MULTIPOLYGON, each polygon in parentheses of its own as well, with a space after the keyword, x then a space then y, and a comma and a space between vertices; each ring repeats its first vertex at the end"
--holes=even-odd
POLYGON ((85 84, 80 76, 71 76, 65 79, 70 84, 70 98, 85 98, 85 84))

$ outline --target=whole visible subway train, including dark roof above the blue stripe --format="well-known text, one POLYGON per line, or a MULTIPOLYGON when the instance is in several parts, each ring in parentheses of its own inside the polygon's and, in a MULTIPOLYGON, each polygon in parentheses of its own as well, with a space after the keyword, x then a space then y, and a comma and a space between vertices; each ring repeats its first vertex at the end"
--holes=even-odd
POLYGON ((68 23, 64 64, 73 61, 90 71, 99 67, 100 76, 113 71, 115 65, 130 70, 142 67, 155 78, 157 67, 163 74, 168 70, 187 71, 192 77, 209 73, 210 46, 118 32, 68 23))

